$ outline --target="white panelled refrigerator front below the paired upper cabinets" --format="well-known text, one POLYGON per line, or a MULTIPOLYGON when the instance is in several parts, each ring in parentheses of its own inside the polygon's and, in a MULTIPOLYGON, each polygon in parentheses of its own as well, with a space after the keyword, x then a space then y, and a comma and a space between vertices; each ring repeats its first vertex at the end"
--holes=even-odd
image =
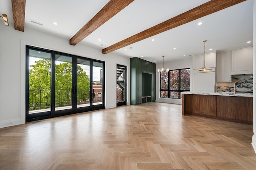
POLYGON ((198 72, 193 70, 193 92, 194 93, 215 93, 216 91, 216 74, 215 67, 211 71, 198 72))

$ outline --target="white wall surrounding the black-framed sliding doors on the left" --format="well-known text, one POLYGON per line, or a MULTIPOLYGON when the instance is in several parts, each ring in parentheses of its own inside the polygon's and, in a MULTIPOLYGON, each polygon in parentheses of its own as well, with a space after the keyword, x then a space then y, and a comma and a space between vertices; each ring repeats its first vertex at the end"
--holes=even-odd
MULTIPOLYGON (((69 45, 69 40, 25 28, 24 32, 0 24, 0 128, 25 123, 25 45, 52 49, 105 61, 106 95, 105 108, 116 107, 116 64, 127 66, 130 77, 130 59, 114 53, 102 54, 100 49, 78 43, 69 45)), ((127 80, 130 94, 130 79, 127 80)), ((130 104, 128 95, 127 104, 130 104)))

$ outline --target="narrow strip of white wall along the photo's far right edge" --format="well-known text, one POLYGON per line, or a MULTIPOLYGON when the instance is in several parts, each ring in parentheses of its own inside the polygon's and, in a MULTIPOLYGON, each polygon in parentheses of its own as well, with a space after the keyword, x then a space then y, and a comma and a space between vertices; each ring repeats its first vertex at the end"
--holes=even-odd
POLYGON ((253 136, 252 146, 256 153, 256 0, 253 5, 253 136))

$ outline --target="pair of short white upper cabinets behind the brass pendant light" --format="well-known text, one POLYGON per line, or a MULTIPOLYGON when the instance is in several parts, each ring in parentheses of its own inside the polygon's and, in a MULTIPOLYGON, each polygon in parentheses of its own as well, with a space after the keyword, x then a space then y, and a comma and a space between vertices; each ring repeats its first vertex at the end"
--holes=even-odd
MULTIPOLYGON (((204 67, 204 55, 193 56, 193 69, 201 69, 204 67)), ((216 67, 216 52, 205 55, 205 67, 216 67)))

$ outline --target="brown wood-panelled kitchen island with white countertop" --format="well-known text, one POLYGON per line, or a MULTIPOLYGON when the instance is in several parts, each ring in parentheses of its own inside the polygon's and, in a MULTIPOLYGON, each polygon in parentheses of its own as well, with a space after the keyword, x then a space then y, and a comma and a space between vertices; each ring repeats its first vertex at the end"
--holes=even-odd
POLYGON ((253 95, 183 92, 182 115, 196 115, 253 125, 253 95))

